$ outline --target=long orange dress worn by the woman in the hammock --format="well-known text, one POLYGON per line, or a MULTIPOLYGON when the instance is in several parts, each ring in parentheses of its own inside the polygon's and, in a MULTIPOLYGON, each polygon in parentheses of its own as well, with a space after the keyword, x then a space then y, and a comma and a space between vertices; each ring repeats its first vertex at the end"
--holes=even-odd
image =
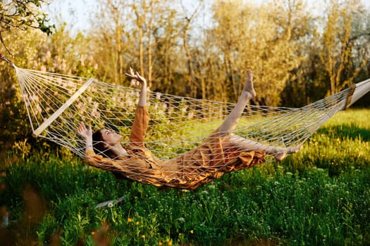
POLYGON ((194 150, 171 160, 160 160, 145 148, 144 135, 149 125, 146 107, 137 106, 128 155, 110 159, 87 150, 85 162, 93 167, 112 171, 128 179, 153 186, 169 186, 193 190, 230 171, 246 169, 264 162, 264 150, 240 151, 228 136, 214 131, 194 150))

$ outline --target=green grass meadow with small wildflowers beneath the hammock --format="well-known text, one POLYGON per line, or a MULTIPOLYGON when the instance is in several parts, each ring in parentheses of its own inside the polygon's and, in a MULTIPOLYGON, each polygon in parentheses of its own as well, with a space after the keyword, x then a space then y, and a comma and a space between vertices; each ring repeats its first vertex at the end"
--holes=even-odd
POLYGON ((0 178, 0 216, 10 215, 0 241, 368 245, 369 122, 370 110, 339 112, 284 162, 224 175, 192 192, 117 182, 73 158, 14 158, 0 178), (94 208, 121 196, 120 205, 94 208))

